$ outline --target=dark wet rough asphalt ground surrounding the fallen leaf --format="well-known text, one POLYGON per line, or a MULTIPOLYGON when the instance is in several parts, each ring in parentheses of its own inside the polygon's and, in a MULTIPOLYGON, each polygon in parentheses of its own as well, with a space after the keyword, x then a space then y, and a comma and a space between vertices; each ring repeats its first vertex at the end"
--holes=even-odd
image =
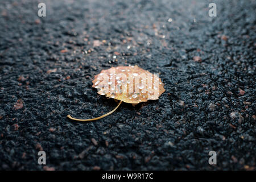
POLYGON ((0 2, 0 169, 255 170, 255 1, 44 2, 0 2), (68 121, 112 110, 93 77, 129 64, 158 101, 68 121))

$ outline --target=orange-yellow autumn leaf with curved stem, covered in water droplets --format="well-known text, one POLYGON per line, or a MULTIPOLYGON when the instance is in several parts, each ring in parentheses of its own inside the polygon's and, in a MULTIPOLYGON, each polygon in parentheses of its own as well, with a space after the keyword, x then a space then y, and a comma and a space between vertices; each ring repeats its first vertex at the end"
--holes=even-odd
POLYGON ((112 67, 104 69, 94 77, 93 88, 98 89, 98 94, 119 100, 114 110, 98 118, 76 119, 68 115, 69 119, 75 121, 94 121, 112 114, 122 102, 139 104, 148 100, 158 100, 164 93, 164 84, 158 74, 152 74, 137 65, 129 67, 112 67))

